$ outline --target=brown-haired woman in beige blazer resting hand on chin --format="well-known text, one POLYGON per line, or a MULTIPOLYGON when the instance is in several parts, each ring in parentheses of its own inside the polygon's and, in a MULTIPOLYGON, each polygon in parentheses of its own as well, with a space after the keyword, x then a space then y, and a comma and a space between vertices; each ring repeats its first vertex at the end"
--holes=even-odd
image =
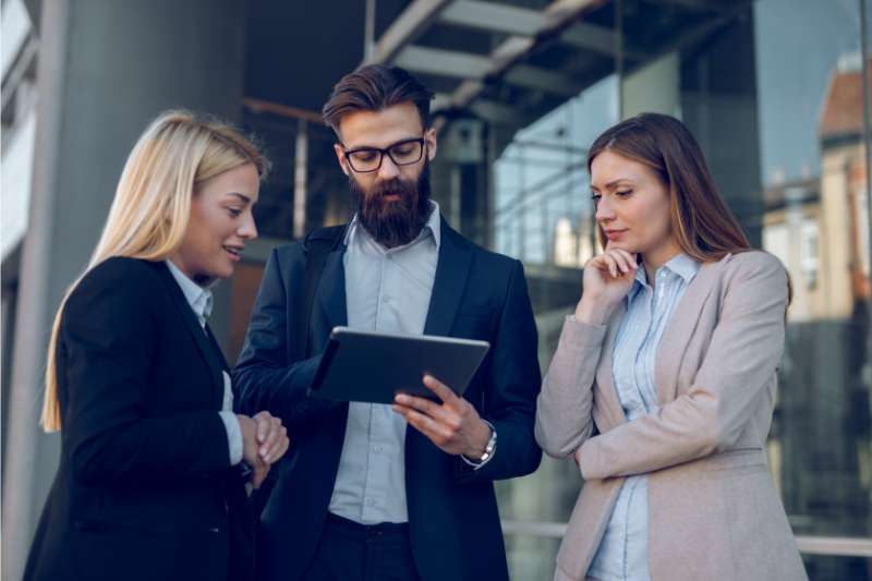
POLYGON ((671 117, 588 154, 605 252, 584 266, 538 399, 536 440, 584 486, 556 581, 800 581, 763 446, 789 287, 751 250, 671 117))

